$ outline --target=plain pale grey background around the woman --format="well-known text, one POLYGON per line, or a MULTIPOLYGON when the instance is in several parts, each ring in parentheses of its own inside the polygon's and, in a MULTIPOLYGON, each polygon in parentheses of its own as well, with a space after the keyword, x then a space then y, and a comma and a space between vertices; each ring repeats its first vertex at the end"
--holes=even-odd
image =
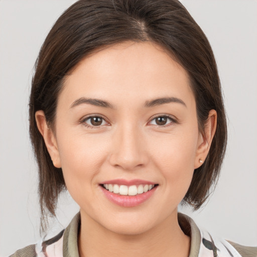
MULTIPOLYGON (((39 240, 37 172, 28 137, 33 65, 54 21, 75 1, 0 0, 0 256, 39 240)), ((257 245, 257 1, 183 0, 207 35, 218 63, 229 118, 221 177, 200 227, 257 245)), ((79 210, 62 195, 50 234, 79 210)))

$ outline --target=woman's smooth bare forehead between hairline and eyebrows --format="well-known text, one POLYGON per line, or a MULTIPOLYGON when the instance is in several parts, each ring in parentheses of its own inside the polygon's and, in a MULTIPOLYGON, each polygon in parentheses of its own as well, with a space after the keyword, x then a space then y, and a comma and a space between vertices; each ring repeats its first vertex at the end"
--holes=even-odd
POLYGON ((88 96, 123 102, 193 96, 185 69, 151 42, 124 42, 90 54, 66 77, 63 94, 68 101, 88 96))

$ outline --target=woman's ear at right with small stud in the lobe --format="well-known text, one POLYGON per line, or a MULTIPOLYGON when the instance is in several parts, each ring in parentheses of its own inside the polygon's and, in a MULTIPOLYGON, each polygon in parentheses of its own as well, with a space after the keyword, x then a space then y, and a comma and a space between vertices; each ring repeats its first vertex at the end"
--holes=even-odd
POLYGON ((204 126, 204 134, 199 133, 194 169, 199 168, 206 159, 216 131, 216 126, 217 112, 215 110, 210 110, 208 120, 204 126))

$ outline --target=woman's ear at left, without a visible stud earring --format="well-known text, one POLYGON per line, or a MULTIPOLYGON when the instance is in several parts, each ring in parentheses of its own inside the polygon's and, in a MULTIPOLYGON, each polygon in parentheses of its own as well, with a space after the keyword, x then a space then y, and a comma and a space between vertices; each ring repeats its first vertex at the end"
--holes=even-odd
POLYGON ((47 124, 44 111, 43 110, 36 111, 35 117, 36 117, 38 130, 44 138, 48 153, 50 154, 51 159, 53 161, 53 165, 56 168, 61 168, 62 166, 61 166, 60 155, 59 155, 56 138, 54 136, 53 131, 50 129, 50 127, 47 124))

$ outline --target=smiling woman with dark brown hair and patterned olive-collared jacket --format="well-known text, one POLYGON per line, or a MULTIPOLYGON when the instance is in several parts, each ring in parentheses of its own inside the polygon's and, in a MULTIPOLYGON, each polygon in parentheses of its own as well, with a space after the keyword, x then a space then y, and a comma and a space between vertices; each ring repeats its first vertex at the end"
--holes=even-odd
POLYGON ((80 213, 14 256, 255 256, 177 213, 207 199, 226 146, 215 59, 179 2, 70 7, 38 57, 30 134, 42 229, 66 188, 80 213))

